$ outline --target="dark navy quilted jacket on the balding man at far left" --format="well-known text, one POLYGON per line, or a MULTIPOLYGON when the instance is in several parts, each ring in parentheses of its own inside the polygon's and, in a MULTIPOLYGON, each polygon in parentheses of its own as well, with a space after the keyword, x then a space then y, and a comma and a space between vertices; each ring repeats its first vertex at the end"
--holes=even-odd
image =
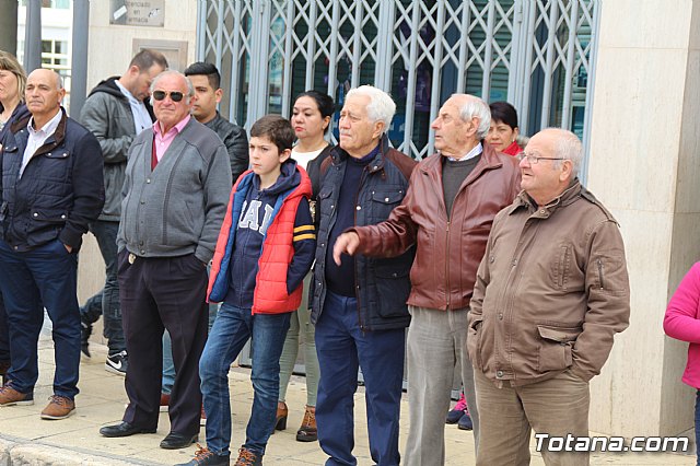
POLYGON ((61 113, 56 132, 36 150, 21 178, 28 118, 12 125, 0 152, 2 238, 19 252, 56 238, 80 249, 88 223, 97 219, 105 201, 100 143, 61 113))

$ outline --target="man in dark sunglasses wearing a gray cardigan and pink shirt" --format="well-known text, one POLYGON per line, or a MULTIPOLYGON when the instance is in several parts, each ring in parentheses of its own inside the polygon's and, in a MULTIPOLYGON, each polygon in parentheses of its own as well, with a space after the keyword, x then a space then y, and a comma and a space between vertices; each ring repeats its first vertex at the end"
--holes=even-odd
POLYGON ((231 170, 215 132, 190 116, 195 90, 177 71, 151 85, 158 118, 131 144, 117 235, 119 298, 129 405, 105 436, 153 433, 158 427, 164 329, 173 341, 171 432, 162 448, 183 448, 199 433, 199 357, 207 339, 207 264, 229 201, 231 170))

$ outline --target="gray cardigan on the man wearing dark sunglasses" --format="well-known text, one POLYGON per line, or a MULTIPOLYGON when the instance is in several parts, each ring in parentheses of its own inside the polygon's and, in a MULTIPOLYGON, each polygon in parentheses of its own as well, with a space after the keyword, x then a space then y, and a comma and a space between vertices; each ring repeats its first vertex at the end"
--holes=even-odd
POLYGON ((141 257, 213 256, 231 193, 229 153, 215 132, 191 118, 151 171, 153 129, 128 155, 117 246, 141 257))

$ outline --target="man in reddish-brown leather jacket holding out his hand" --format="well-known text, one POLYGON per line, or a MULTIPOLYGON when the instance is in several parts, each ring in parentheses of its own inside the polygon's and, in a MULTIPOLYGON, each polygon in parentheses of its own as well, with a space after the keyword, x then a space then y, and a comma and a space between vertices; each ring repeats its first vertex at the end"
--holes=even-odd
POLYGON ((455 94, 431 127, 439 153, 413 171, 404 201, 387 221, 353 228, 336 242, 342 253, 394 257, 416 244, 408 298, 410 429, 405 465, 444 464, 444 423, 454 368, 459 365, 475 441, 479 435, 474 375, 466 352, 476 270, 493 217, 520 190, 516 161, 483 141, 491 114, 481 100, 455 94))

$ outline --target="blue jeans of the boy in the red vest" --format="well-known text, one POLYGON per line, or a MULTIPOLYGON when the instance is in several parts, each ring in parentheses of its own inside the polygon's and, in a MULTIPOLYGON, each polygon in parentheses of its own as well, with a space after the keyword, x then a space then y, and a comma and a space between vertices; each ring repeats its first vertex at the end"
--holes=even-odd
POLYGON ((280 354, 290 313, 250 314, 249 308, 224 303, 199 360, 201 393, 207 412, 207 446, 228 455, 231 443, 229 369, 250 339, 253 409, 246 429, 246 448, 262 455, 275 429, 280 383, 280 354))

